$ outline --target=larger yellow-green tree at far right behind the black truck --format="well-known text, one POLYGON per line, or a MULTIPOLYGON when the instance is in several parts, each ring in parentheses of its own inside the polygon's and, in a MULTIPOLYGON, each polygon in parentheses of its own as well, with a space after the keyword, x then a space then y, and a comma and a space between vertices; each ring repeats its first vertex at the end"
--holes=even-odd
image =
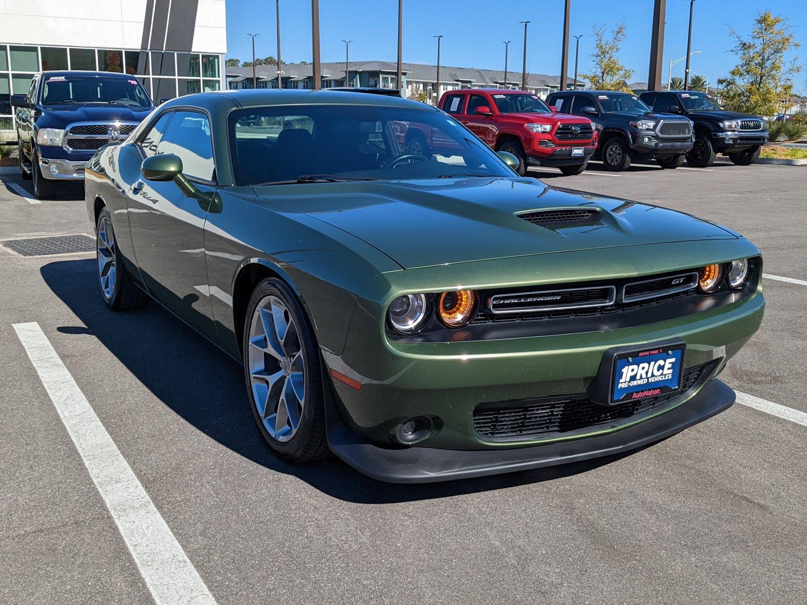
POLYGON ((758 13, 751 35, 743 37, 734 27, 730 33, 736 44, 731 52, 738 56, 728 77, 717 84, 723 90, 725 106, 734 111, 756 115, 774 115, 781 111, 782 101, 790 98, 793 77, 801 72, 797 57, 789 62, 784 55, 801 46, 794 38, 785 17, 758 13))

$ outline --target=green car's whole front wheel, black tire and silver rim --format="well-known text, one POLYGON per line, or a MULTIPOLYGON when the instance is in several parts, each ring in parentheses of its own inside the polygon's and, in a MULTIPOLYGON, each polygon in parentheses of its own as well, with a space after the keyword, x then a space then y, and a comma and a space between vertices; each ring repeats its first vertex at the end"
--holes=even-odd
POLYGON ((328 452, 320 353, 294 292, 270 277, 249 298, 243 334, 249 407, 272 452, 291 463, 328 452))

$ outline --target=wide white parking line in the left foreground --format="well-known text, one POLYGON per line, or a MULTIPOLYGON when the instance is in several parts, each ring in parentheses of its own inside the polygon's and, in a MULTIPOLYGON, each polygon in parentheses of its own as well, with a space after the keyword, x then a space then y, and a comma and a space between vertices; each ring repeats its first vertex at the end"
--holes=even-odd
POLYGON ((95 415, 39 324, 15 323, 31 363, 157 605, 215 605, 174 533, 95 415))

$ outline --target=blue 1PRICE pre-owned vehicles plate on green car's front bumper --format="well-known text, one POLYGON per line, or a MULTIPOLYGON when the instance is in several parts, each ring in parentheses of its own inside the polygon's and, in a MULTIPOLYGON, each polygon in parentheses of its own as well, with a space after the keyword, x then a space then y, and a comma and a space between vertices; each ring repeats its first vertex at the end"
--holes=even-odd
POLYGON ((635 401, 681 388, 684 344, 622 353, 613 360, 611 403, 635 401))

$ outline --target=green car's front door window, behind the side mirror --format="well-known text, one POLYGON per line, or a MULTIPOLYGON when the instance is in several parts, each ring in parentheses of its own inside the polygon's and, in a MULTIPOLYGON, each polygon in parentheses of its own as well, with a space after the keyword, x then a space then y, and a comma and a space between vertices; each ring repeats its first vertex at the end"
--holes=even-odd
POLYGON ((174 153, 182 160, 188 177, 215 180, 213 140, 207 115, 197 111, 176 111, 157 144, 157 153, 174 153))

